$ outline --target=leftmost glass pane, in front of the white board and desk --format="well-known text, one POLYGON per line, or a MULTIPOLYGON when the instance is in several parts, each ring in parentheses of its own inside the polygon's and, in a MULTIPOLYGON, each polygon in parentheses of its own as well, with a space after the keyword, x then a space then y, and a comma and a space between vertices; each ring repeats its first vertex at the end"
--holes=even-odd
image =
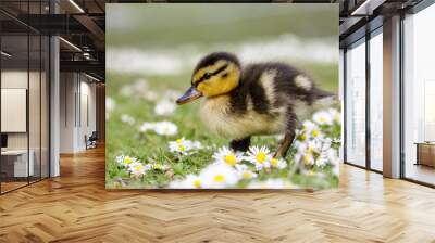
POLYGON ((26 186, 34 175, 28 153, 28 36, 3 35, 1 51, 1 191, 8 192, 26 186))

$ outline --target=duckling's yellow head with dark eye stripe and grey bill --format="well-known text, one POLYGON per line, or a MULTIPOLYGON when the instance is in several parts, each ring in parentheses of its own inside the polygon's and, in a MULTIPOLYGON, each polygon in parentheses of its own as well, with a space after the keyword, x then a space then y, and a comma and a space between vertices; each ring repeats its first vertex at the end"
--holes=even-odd
POLYGON ((185 104, 200 97, 211 98, 228 93, 240 81, 240 64, 236 55, 213 52, 199 61, 191 75, 191 87, 177 104, 185 104))

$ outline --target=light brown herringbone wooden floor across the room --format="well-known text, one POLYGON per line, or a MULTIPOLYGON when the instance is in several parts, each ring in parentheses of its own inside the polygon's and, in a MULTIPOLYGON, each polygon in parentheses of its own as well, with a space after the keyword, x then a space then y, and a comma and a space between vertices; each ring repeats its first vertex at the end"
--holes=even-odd
POLYGON ((336 190, 107 191, 103 150, 0 196, 0 242, 435 242, 435 190, 343 166, 336 190))

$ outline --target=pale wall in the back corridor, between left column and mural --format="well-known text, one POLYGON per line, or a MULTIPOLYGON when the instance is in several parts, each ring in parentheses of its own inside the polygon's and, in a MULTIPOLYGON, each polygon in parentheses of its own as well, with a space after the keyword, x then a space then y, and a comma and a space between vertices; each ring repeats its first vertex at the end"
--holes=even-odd
POLYGON ((96 130, 96 85, 90 81, 83 74, 61 73, 61 153, 86 150, 85 136, 96 130))

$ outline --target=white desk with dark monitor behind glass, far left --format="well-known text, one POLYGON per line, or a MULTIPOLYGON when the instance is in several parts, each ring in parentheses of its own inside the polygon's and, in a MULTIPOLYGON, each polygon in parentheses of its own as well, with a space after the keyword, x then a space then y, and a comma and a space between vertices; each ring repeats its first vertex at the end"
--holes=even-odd
POLYGON ((1 151, 2 172, 5 172, 7 177, 33 176, 35 172, 35 167, 34 167, 35 153, 33 150, 30 150, 28 154, 30 155, 29 157, 30 159, 28 159, 28 167, 27 167, 27 150, 1 151))

